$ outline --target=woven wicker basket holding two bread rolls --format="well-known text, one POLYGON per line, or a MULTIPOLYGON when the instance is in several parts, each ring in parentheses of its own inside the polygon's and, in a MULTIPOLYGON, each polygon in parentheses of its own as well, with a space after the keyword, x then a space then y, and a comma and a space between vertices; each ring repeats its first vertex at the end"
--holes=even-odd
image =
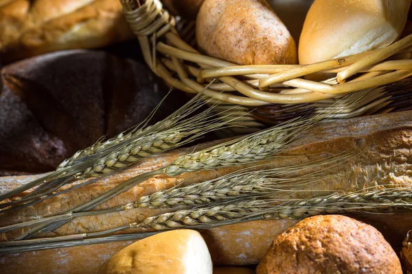
POLYGON ((383 49, 315 64, 240 66, 196 51, 194 22, 174 18, 160 0, 122 0, 122 5, 152 71, 169 86, 213 97, 220 110, 242 116, 249 131, 321 112, 350 92, 359 101, 342 106, 344 117, 412 108, 412 35, 383 49), (319 72, 336 76, 304 79, 319 72))

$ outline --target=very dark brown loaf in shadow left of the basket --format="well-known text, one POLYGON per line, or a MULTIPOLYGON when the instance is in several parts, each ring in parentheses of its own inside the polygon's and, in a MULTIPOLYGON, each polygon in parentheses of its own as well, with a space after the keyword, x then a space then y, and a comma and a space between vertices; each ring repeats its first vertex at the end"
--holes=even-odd
MULTIPOLYGON (((51 171, 101 136, 143 121, 169 90, 146 64, 86 50, 10 64, 1 79, 0 175, 51 171)), ((153 121, 183 103, 175 93, 153 121)))

